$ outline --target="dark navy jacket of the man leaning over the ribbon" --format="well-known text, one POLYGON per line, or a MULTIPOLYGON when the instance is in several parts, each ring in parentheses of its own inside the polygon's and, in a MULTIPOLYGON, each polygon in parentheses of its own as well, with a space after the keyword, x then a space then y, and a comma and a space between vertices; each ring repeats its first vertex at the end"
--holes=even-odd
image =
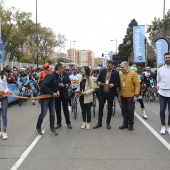
POLYGON ((58 79, 59 79, 59 75, 56 73, 56 71, 47 74, 42 82, 40 93, 53 95, 53 93, 59 91, 58 79))

